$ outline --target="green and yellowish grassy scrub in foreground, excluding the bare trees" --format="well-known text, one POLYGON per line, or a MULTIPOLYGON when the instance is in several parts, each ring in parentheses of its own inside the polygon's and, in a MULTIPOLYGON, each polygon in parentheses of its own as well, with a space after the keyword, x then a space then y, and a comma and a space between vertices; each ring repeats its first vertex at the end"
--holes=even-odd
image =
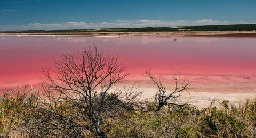
MULTIPOLYGON (((44 130, 29 126, 31 123, 25 114, 33 114, 28 103, 35 95, 12 96, 15 97, 5 97, 0 101, 1 136, 65 137, 61 132, 54 132, 50 126, 45 126, 44 130)), ((157 112, 156 103, 148 102, 146 108, 137 110, 136 114, 128 114, 130 119, 113 117, 105 120, 102 128, 109 137, 255 137, 256 100, 247 100, 239 107, 230 106, 227 101, 223 103, 225 107, 219 109, 183 106, 173 110, 163 108, 157 112)), ((62 110, 65 106, 58 108, 62 110)), ((62 111, 69 114, 68 110, 62 111)), ((93 137, 93 134, 84 131, 79 137, 93 137)))

